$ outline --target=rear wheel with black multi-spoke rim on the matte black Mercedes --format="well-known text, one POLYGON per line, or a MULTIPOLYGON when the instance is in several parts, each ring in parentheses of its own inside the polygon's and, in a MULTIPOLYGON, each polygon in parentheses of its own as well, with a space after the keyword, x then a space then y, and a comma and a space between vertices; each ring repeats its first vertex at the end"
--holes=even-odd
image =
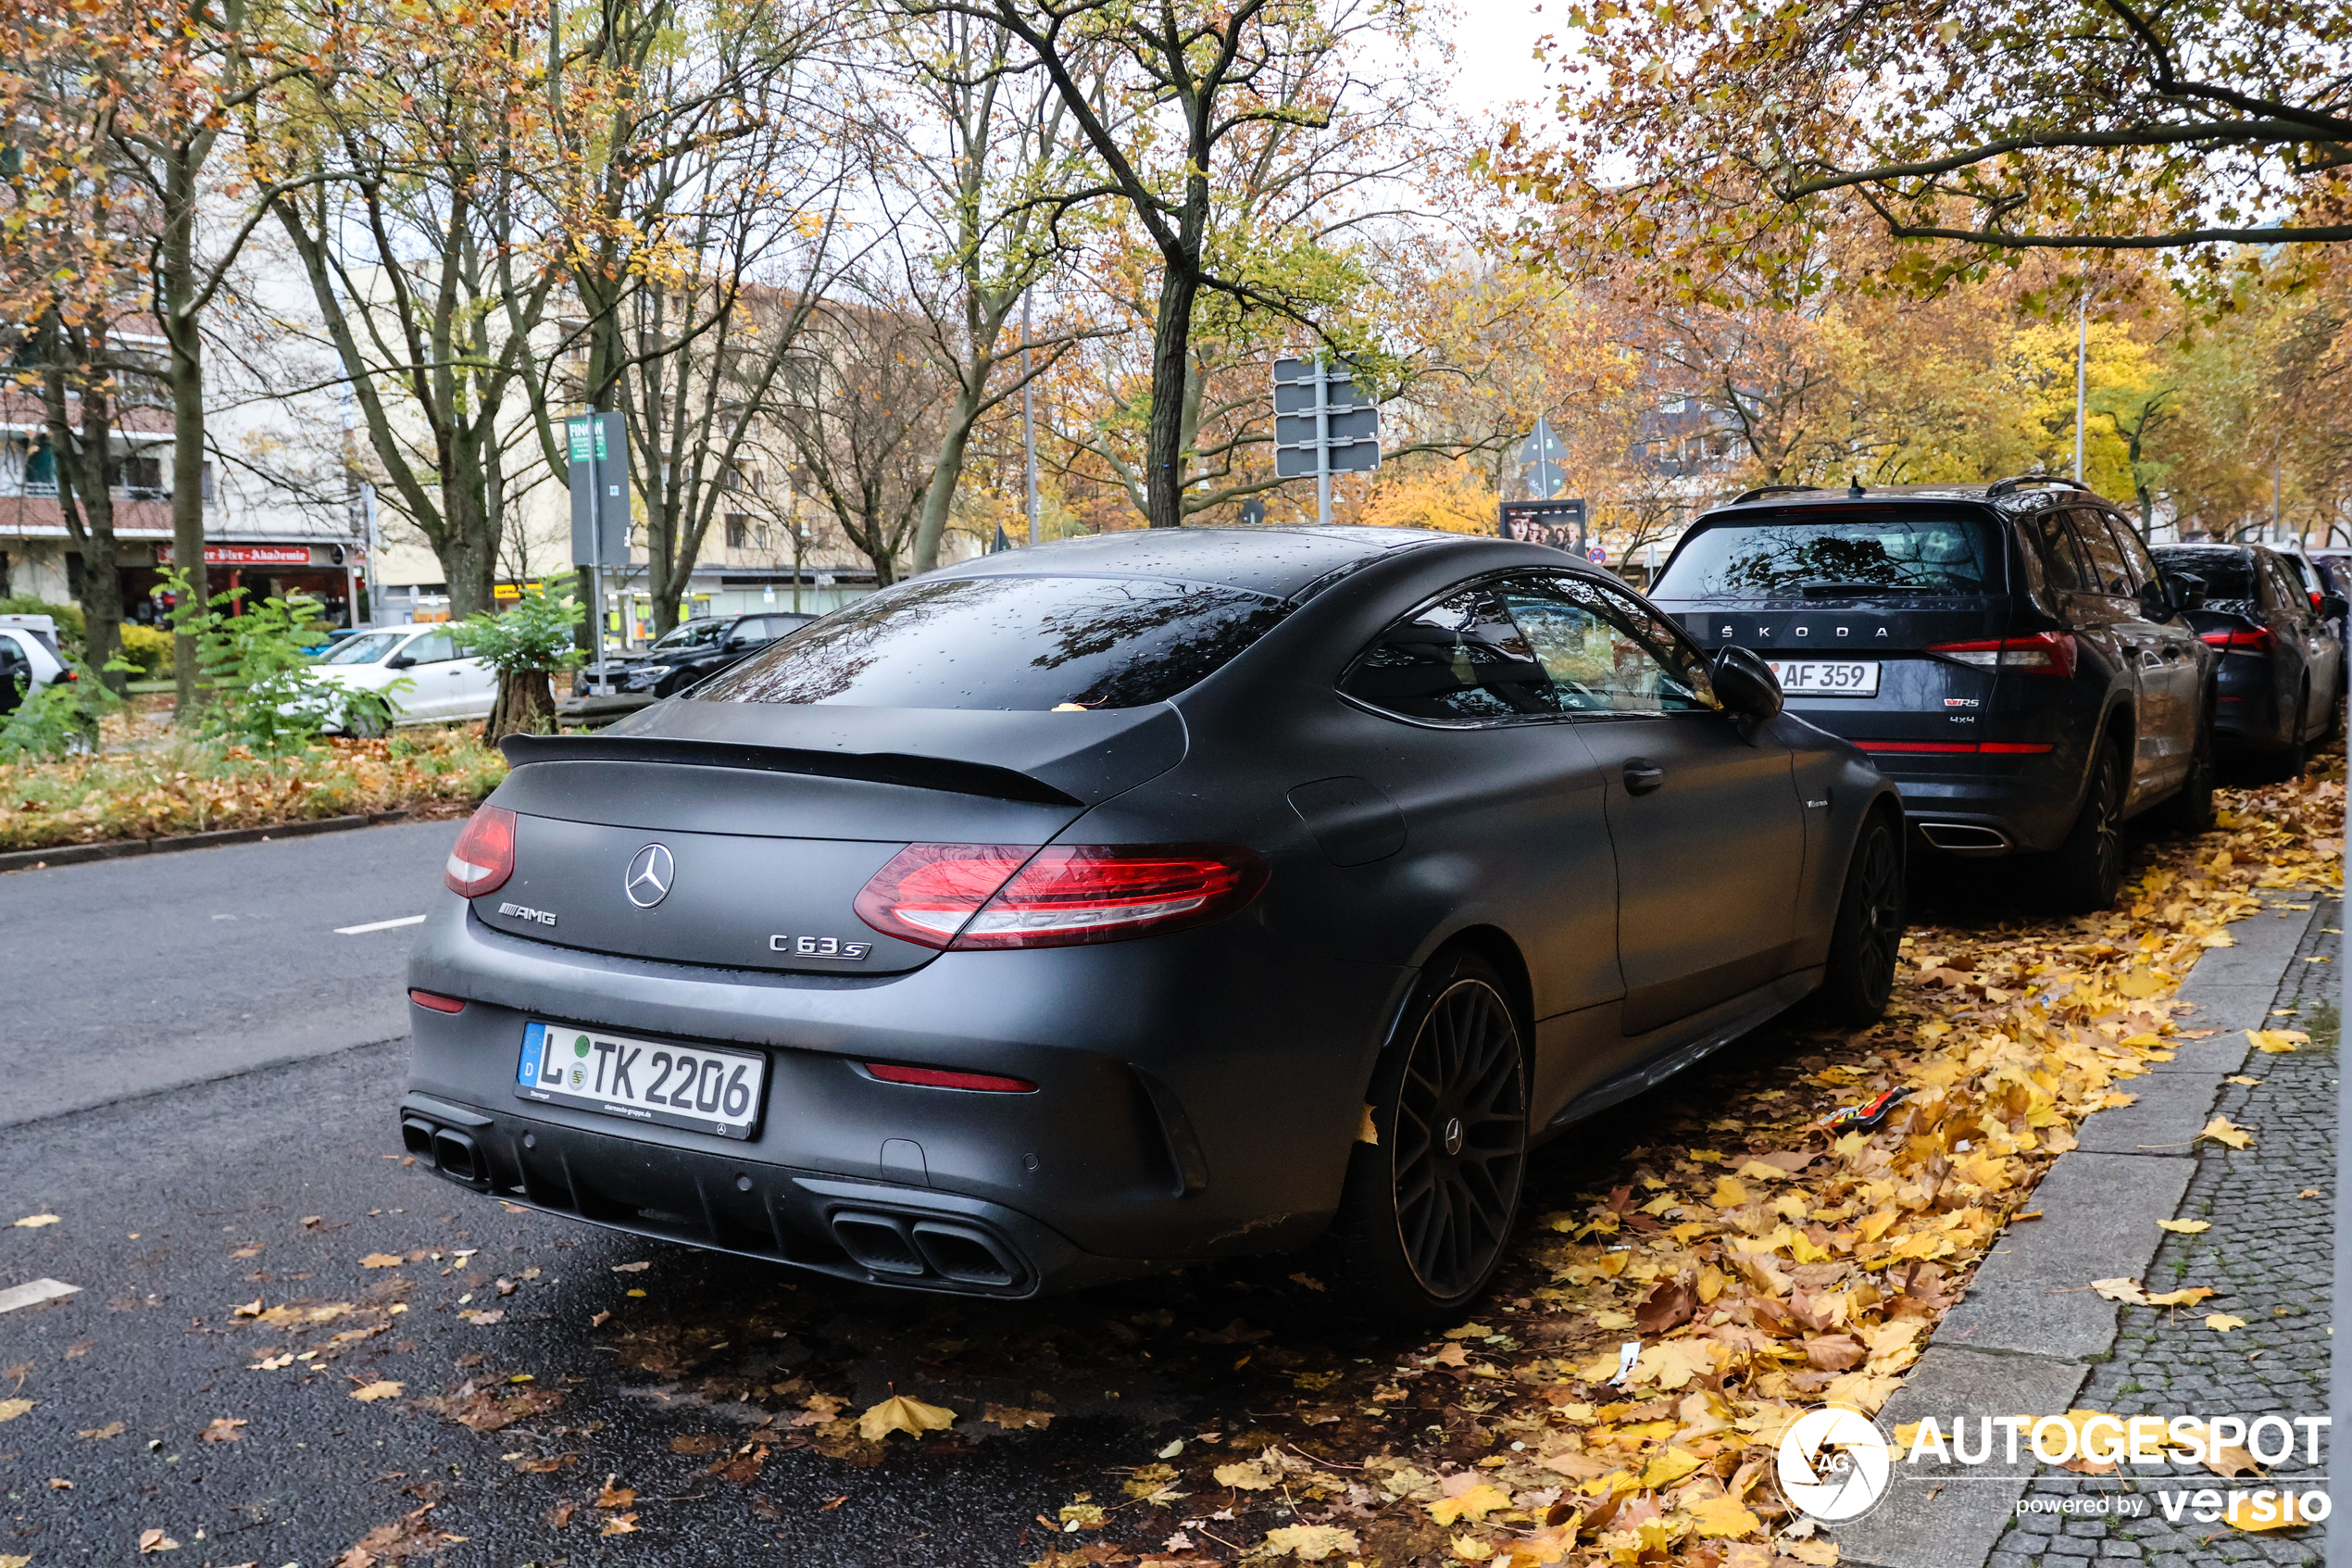
POLYGON ((1510 990, 1472 952, 1421 976, 1371 1081, 1376 1145, 1348 1161, 1331 1237, 1357 1316, 1425 1326, 1494 1279, 1526 1180, 1526 1048, 1510 990))

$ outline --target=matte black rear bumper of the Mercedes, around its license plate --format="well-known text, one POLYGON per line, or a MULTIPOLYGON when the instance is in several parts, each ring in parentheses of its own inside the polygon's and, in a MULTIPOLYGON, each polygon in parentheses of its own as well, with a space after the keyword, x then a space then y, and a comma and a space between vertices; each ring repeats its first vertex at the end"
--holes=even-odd
POLYGON ((508 1201, 870 1284, 1023 1295, 1312 1241, 1411 978, 1284 950, 1249 912, 851 978, 574 952, 452 896, 409 980, 468 1006, 409 1009, 402 1119, 426 1124, 407 1135, 435 1168, 508 1201), (731 1140, 520 1100, 532 1018, 755 1046, 762 1119, 731 1140), (866 1060, 1037 1091, 884 1084, 866 1060), (442 1133, 463 1140, 442 1140, 449 1159, 442 1133), (941 1265, 990 1251, 1004 1267, 941 1265))

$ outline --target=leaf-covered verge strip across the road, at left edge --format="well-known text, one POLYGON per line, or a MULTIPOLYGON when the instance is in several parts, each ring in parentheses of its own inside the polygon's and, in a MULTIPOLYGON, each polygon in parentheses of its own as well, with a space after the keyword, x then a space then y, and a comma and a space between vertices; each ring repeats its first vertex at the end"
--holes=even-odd
POLYGON ((329 738, 280 757, 219 741, 0 766, 0 849, 155 839, 419 806, 466 809, 506 757, 470 726, 329 738))

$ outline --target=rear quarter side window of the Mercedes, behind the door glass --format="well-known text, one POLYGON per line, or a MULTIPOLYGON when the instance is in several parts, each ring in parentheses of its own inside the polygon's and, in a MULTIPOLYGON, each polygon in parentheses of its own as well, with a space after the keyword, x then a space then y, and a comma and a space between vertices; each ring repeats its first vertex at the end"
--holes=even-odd
POLYGON ((1371 708, 1439 724, 1559 712, 1552 682, 1494 583, 1456 590, 1381 632, 1338 689, 1371 708))

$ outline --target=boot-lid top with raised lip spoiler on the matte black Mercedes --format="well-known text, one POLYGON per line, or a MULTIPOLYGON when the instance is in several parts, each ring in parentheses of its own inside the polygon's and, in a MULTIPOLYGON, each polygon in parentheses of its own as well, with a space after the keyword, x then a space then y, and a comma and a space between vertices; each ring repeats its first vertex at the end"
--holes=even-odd
POLYGON ((666 701, 593 736, 508 736, 513 766, 673 762, 1091 806, 1185 755, 1174 708, 985 712, 666 701))

